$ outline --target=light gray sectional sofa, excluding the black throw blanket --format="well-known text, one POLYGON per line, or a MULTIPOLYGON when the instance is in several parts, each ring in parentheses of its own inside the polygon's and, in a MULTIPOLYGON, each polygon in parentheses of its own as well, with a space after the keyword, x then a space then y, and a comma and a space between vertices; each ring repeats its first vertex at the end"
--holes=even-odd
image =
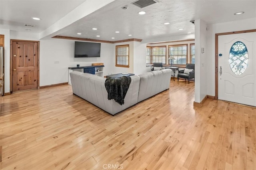
POLYGON ((169 89, 171 72, 171 69, 164 69, 130 76, 132 80, 124 98, 124 105, 119 105, 113 99, 108 100, 105 88, 106 78, 79 71, 71 72, 70 78, 75 95, 115 115, 144 99, 169 89))

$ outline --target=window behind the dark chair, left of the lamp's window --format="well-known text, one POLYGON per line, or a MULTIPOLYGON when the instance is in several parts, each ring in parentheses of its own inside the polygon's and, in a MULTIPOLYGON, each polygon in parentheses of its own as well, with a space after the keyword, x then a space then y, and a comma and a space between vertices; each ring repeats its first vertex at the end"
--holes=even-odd
POLYGON ((151 47, 151 61, 166 64, 166 46, 151 47))

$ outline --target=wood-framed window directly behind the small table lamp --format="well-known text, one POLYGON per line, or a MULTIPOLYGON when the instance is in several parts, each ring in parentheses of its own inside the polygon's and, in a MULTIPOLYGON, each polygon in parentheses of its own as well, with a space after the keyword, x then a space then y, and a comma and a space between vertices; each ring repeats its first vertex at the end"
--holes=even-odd
MULTIPOLYGON (((187 44, 169 45, 169 57, 174 57, 173 64, 186 64, 187 63, 187 44)), ((169 61, 170 62, 170 61, 169 61)), ((170 64, 170 63, 169 63, 170 64)))

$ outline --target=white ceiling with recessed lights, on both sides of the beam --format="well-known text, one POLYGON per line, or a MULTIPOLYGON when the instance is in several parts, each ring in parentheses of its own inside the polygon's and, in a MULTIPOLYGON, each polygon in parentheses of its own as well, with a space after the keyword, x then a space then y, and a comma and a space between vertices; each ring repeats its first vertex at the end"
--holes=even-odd
MULTIPOLYGON (((0 0, 0 28, 8 27, 16 31, 31 29, 31 32, 40 33, 85 1, 0 0), (32 20, 33 16, 42 20, 32 20), (23 24, 36 26, 26 28, 23 24)), ((256 0, 160 0, 159 3, 143 9, 134 6, 131 2, 134 0, 115 0, 74 21, 73 24, 60 28, 53 35, 106 41, 130 38, 144 40, 194 33, 194 24, 190 22, 191 20, 202 19, 209 24, 214 24, 256 17, 256 0), (121 7, 125 5, 128 5, 128 9, 123 10, 121 7), (146 11, 146 14, 139 15, 138 12, 141 10, 146 11), (240 11, 245 13, 234 15, 240 11), (171 24, 164 25, 164 22, 171 24), (92 28, 98 30, 92 30, 92 28), (184 30, 178 30, 179 28, 184 30), (82 35, 77 35, 78 32, 82 35), (96 37, 97 35, 100 37, 96 37)))

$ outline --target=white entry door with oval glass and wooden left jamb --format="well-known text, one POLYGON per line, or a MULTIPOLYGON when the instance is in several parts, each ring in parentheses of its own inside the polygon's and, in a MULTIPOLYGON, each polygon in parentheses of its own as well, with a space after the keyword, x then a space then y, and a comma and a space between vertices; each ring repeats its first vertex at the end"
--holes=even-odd
POLYGON ((216 34, 216 92, 220 100, 256 107, 256 30, 216 34))

